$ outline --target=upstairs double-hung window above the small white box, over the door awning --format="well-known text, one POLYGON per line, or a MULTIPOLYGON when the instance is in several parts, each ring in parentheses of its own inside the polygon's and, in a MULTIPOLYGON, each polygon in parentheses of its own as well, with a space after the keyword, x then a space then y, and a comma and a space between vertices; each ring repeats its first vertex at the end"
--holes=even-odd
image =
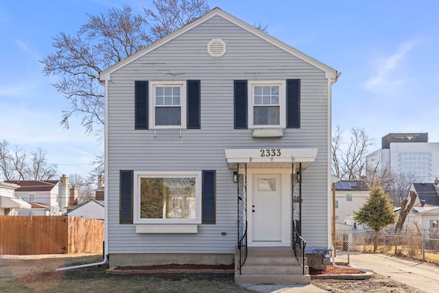
POLYGON ((285 82, 250 81, 250 128, 285 128, 285 82))

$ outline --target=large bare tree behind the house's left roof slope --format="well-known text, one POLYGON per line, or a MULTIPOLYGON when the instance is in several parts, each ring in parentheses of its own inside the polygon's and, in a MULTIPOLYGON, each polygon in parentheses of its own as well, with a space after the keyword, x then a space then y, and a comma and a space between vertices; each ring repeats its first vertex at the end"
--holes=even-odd
POLYGON ((88 23, 75 36, 60 32, 54 37, 55 52, 40 62, 45 75, 58 75, 53 85, 70 101, 62 126, 69 128, 69 119, 78 116, 86 133, 102 139, 104 93, 97 80, 99 72, 209 10, 206 0, 156 0, 153 4, 156 12, 144 8, 146 16, 134 14, 128 6, 88 14, 88 23))

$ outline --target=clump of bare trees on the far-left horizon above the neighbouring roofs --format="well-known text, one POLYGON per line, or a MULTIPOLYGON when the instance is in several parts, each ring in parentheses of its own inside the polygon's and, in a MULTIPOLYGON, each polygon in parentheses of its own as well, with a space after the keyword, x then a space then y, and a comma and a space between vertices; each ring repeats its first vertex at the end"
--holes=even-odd
POLYGON ((57 166, 49 163, 47 152, 38 148, 30 156, 8 141, 0 143, 0 171, 5 180, 50 180, 57 176, 57 166))

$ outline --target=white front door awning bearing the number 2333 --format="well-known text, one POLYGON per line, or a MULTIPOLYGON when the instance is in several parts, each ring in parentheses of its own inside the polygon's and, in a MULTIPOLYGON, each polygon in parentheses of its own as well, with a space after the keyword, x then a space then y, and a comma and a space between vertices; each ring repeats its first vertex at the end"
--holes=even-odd
POLYGON ((316 160, 317 148, 258 148, 225 150, 229 169, 238 163, 250 168, 291 168, 292 163, 302 163, 306 168, 316 160))

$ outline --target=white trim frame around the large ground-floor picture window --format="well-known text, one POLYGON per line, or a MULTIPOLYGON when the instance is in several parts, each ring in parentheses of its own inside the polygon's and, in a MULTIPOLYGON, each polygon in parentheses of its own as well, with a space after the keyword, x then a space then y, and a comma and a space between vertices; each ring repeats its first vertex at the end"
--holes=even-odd
POLYGON ((202 176, 200 172, 134 172, 134 224, 201 224, 202 176), (195 177, 195 219, 142 219, 140 218, 140 178, 142 177, 195 177))

